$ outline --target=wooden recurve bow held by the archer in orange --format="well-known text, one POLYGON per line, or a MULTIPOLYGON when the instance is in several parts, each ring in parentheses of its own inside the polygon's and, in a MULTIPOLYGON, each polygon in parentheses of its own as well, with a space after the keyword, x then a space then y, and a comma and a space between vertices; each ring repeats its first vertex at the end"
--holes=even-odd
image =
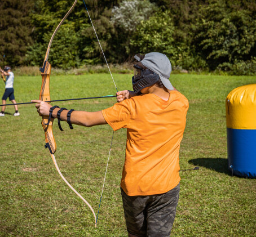
MULTIPOLYGON (((54 33, 52 34, 52 37, 48 44, 46 55, 45 55, 45 60, 43 62, 43 67, 39 69, 41 71, 41 76, 42 76, 42 86, 41 86, 41 91, 39 94, 39 100, 42 100, 42 101, 50 101, 51 100, 50 99, 51 64, 50 64, 50 62, 48 62, 48 56, 49 56, 49 52, 50 52, 50 48, 51 48, 51 43, 52 43, 52 40, 54 39, 56 32, 59 30, 63 21, 68 17, 70 12, 73 10, 76 3, 77 3, 77 0, 74 1, 72 7, 69 9, 69 11, 64 16, 64 18, 60 21, 59 25, 57 26, 54 33)), ((56 151, 56 142, 55 142, 54 135, 52 133, 52 123, 54 122, 54 118, 51 118, 50 122, 48 124, 47 124, 47 122, 48 122, 48 117, 43 116, 41 123, 42 123, 43 130, 45 131, 45 143, 46 143, 45 147, 49 149, 51 158, 52 158, 52 160, 55 164, 55 167, 56 167, 57 171, 59 172, 59 175, 61 176, 61 178, 70 187, 70 189, 72 189, 74 191, 74 193, 76 193, 83 200, 83 202, 85 202, 88 205, 88 207, 91 209, 92 214, 94 214, 94 219, 95 219, 94 223, 95 223, 95 227, 96 227, 96 215, 95 215, 94 209, 92 209, 91 205, 69 184, 69 182, 65 179, 65 177, 60 172, 60 169, 58 167, 58 164, 56 162, 55 155, 54 155, 54 153, 56 151)))

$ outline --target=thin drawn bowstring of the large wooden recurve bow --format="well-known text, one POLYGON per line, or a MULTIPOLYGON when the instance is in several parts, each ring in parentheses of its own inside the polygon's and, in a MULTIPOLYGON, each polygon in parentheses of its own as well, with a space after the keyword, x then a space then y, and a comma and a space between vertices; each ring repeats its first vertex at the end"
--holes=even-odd
MULTIPOLYGON (((100 46, 101 52, 102 52, 102 54, 103 54, 103 56, 104 56, 104 59, 105 59, 105 62, 106 62, 106 64, 107 64, 107 66, 108 66, 109 73, 111 74, 111 78, 112 78, 112 80, 113 80, 114 87, 116 87, 116 91, 118 92, 116 83, 114 82, 113 75, 112 75, 111 70, 110 70, 109 65, 108 65, 108 61, 107 61, 107 59, 106 59, 106 57, 105 57, 105 53, 104 53, 104 51, 103 51, 103 48, 101 47, 101 44, 100 44, 100 41, 99 41, 99 38, 98 38, 98 34, 96 33, 96 30, 95 30, 95 28, 94 28, 94 24, 92 23, 92 20, 91 20, 89 11, 88 11, 88 9, 87 9, 87 7, 86 7, 86 4, 85 4, 85 1, 84 1, 84 0, 83 0, 83 4, 85 5, 87 14, 88 14, 89 19, 90 19, 90 21, 91 21, 92 28, 94 29, 94 33, 95 33, 96 38, 97 38, 97 40, 98 40, 98 42, 99 42, 99 46, 100 46)), ((105 176, 104 176, 104 181, 103 181, 103 186, 102 186, 101 195, 100 195, 100 203, 101 203, 101 199, 102 199, 102 196, 103 196, 103 189, 104 189, 104 184, 105 184, 105 178, 106 178, 106 176, 107 176, 108 163, 109 163, 109 158, 110 158, 111 149, 112 149, 113 137, 114 137, 114 131, 113 131, 113 134, 112 134, 111 146, 110 146, 109 154, 108 154, 107 167, 106 167, 105 176)), ((99 203, 98 214, 97 214, 97 217, 96 217, 95 226, 96 226, 96 223, 98 222, 98 216, 99 216, 99 211, 100 211, 100 203, 99 203)))

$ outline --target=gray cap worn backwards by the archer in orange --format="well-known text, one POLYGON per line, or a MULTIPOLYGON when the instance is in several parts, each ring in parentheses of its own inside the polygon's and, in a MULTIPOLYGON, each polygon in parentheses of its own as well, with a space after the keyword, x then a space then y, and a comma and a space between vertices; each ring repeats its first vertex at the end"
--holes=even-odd
POLYGON ((171 62, 166 55, 158 52, 146 53, 142 61, 146 68, 158 74, 162 83, 168 90, 174 90, 169 81, 171 75, 171 62))

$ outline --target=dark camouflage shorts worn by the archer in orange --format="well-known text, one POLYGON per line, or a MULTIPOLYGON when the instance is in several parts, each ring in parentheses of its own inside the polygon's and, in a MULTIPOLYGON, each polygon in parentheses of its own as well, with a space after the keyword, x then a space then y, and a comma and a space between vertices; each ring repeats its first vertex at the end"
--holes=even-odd
POLYGON ((179 200, 179 184, 164 194, 128 196, 122 189, 127 231, 136 236, 170 236, 179 200))

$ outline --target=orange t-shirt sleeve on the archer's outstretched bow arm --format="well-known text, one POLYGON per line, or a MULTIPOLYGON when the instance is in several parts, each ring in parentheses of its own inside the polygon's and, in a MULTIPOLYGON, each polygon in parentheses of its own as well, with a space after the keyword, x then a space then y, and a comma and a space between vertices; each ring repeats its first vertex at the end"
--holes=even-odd
POLYGON ((114 131, 126 128, 130 120, 130 100, 116 103, 112 107, 102 110, 102 114, 114 131))

